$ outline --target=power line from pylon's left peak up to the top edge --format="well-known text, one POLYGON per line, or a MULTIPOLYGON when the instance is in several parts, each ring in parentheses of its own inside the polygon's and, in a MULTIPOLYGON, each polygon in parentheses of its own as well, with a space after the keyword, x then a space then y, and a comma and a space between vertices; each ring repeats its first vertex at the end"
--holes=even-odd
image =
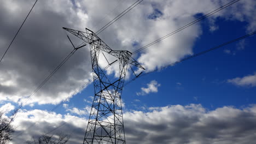
POLYGON ((126 13, 128 13, 131 9, 136 7, 139 3, 141 3, 143 0, 138 0, 135 3, 133 3, 130 7, 125 9, 121 14, 116 16, 113 20, 108 22, 105 26, 103 26, 101 29, 99 29, 95 34, 100 34, 104 29, 108 28, 110 25, 112 25, 115 21, 119 20, 122 16, 124 16, 126 13))

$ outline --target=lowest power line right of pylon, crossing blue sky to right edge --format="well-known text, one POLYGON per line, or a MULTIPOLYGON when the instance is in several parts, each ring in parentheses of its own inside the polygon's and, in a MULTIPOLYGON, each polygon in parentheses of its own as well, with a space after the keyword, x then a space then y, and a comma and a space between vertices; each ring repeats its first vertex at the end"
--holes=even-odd
POLYGON ((144 74, 142 74, 142 75, 140 75, 140 76, 137 76, 137 77, 135 77, 134 79, 130 80, 129 82, 125 83, 124 86, 128 85, 129 83, 131 83, 132 81, 134 81, 134 80, 137 79, 138 77, 142 77, 142 76, 145 76, 145 75, 154 73, 154 72, 156 72, 156 71, 165 69, 165 68, 167 68, 167 67, 173 66, 173 65, 175 65, 175 64, 181 63, 181 62, 183 62, 183 61, 187 61, 188 59, 191 59, 191 58, 200 56, 200 55, 202 55, 202 54, 204 54, 204 53, 207 53, 207 52, 216 50, 216 49, 218 49, 219 47, 223 47, 223 46, 225 46, 225 45, 234 43, 234 42, 236 42, 236 41, 238 41, 238 40, 245 39, 245 38, 247 38, 247 37, 249 37, 249 36, 251 36, 251 35, 254 35, 254 34, 256 34, 256 31, 254 31, 254 32, 252 32, 252 33, 249 33, 249 34, 246 34, 246 35, 243 35, 243 36, 240 37, 240 38, 236 38, 236 39, 234 39, 234 40, 227 41, 227 42, 224 43, 224 44, 221 44, 221 45, 212 47, 211 49, 208 49, 208 50, 206 50, 206 51, 202 51, 202 52, 196 53, 195 55, 189 56, 189 57, 187 57, 187 58, 183 58, 183 59, 181 59, 180 61, 177 61, 177 62, 168 64, 168 65, 165 65, 164 67, 161 67, 161 68, 158 68, 158 69, 155 69, 155 70, 152 70, 152 71, 148 71, 147 73, 144 73, 144 74))

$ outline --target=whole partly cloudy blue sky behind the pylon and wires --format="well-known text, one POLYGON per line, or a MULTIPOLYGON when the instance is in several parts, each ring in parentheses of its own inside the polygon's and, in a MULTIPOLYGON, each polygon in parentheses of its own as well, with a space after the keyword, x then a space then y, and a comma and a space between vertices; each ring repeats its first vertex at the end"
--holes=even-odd
MULTIPOLYGON (((114 50, 123 49, 133 52, 227 2, 229 1, 200 2, 194 0, 191 5, 188 5, 187 1, 152 0, 142 2, 99 34, 99 37, 114 50)), ((132 4, 132 2, 117 4, 114 0, 109 3, 104 1, 95 1, 90 5, 88 3, 92 2, 63 0, 61 3, 57 1, 38 3, 30 19, 25 23, 23 31, 21 31, 3 63, 0 64, 0 79, 2 81, 0 82, 0 106, 3 107, 1 109, 10 112, 26 100, 27 96, 61 62, 61 59, 72 50, 62 27, 80 31, 84 31, 83 29, 87 27, 97 31, 98 28, 104 26, 132 4), (96 11, 97 9, 101 9, 101 11, 96 11), (39 17, 42 18, 39 19, 39 17), (100 23, 98 23, 99 21, 100 23), (45 43, 46 41, 47 43, 45 43)), ((9 34, 6 29, 15 29, 18 26, 15 23, 22 20, 19 13, 25 15, 27 13, 26 8, 29 8, 30 5, 28 2, 11 1, 0 6, 0 9, 3 7, 0 10, 2 12, 0 17, 4 20, 0 26, 3 27, 1 30, 5 34, 0 34, 0 45, 3 47, 0 53, 3 52, 4 46, 12 37, 12 34, 9 34), (13 9, 9 8, 8 5, 13 5, 13 9), (19 7, 24 9, 19 9, 19 7), (7 16, 9 17, 4 19, 7 16)), ((253 0, 241 0, 230 8, 148 47, 133 57, 146 68, 143 73, 147 73, 147 71, 161 68, 166 64, 241 37, 255 31, 256 20, 253 14, 255 7, 256 4, 253 0)), ((72 35, 70 37, 75 44, 79 44, 79 41, 72 35)), ((203 119, 209 115, 216 116, 217 120, 214 122, 208 121, 208 119, 205 121, 193 120, 195 124, 206 123, 205 129, 211 129, 211 124, 225 124, 226 121, 233 121, 233 117, 247 121, 246 117, 240 117, 241 113, 246 113, 256 120, 255 46, 255 36, 251 36, 156 73, 139 77, 125 86, 122 99, 125 121, 128 125, 127 143, 142 143, 142 139, 132 139, 131 137, 137 135, 129 131, 133 129, 142 134, 139 126, 137 126, 138 129, 134 127, 135 124, 141 125, 138 123, 139 118, 141 121, 145 121, 144 124, 148 124, 147 127, 151 127, 150 121, 147 121, 148 118, 159 122, 155 124, 155 127, 167 128, 166 125, 162 125, 164 123, 178 123, 190 115, 192 119, 193 117, 203 119), (176 110, 181 112, 176 113, 176 110), (165 113, 170 115, 165 116, 165 113), (231 116, 230 113, 232 113, 231 116), (173 117, 177 117, 177 119, 167 121, 165 117, 169 116, 170 119, 173 117)), ((100 60, 104 61, 102 58, 100 60)), ((110 58, 109 61, 114 61, 114 59, 110 58)), ((117 65, 114 65, 108 69, 110 79, 114 77, 117 68, 117 65)), ((130 70, 129 73, 131 75, 130 77, 127 76, 126 81, 131 80, 134 76, 130 70)), ((79 88, 90 79, 89 47, 84 47, 79 49, 22 107, 21 114, 18 115, 14 124, 19 125, 18 131, 23 131, 24 135, 15 139, 14 143, 30 139, 32 134, 39 135, 44 131, 49 131, 50 128, 57 127, 61 122, 66 122, 73 133, 77 134, 77 137, 72 138, 71 142, 79 143, 89 118, 88 112, 94 96, 93 83, 90 83, 80 93, 73 95, 54 112, 49 111, 73 93, 74 89, 79 88), (69 117, 73 119, 71 118, 71 120, 69 117), (26 130, 30 124, 38 124, 39 126, 34 126, 38 130, 26 130)), ((6 113, 6 115, 10 115, 10 113, 6 113)), ((190 123, 191 117, 187 118, 188 121, 184 123, 190 123)), ((254 128, 255 121, 248 120, 248 125, 241 124, 242 121, 235 121, 236 127, 243 129, 251 125, 252 129, 254 128)), ((226 127, 226 130, 229 130, 232 125, 230 127, 226 125, 226 127)), ((66 126, 63 127, 64 130, 65 128, 67 129, 66 126)), ((164 137, 167 133, 165 132, 161 135, 161 143, 182 143, 180 139, 183 138, 191 143, 213 143, 219 140, 215 139, 214 136, 213 138, 205 136, 205 132, 198 130, 197 127, 194 128, 192 125, 187 125, 186 128, 198 133, 200 140, 191 138, 193 137, 189 135, 191 131, 186 132, 187 137, 176 136, 179 141, 170 138, 174 135, 164 137)), ((156 130, 151 129, 152 133, 147 133, 147 130, 145 129, 143 134, 145 133, 144 137, 152 137, 151 143, 160 139, 161 136, 154 137, 151 135, 157 131, 157 128, 156 130)), ((172 131, 173 129, 168 130, 172 131)), ((246 130, 240 131, 240 133, 249 133, 249 130, 246 130)), ((171 133, 170 131, 168 133, 171 133)), ((220 131, 214 135, 216 137, 223 135, 220 131)), ((236 132, 230 132, 231 137, 223 138, 220 141, 225 144, 234 143, 232 136, 235 134, 236 132)), ((248 137, 251 137, 248 140, 255 140, 253 135, 248 134, 248 137)), ((144 143, 150 142, 144 141, 144 143)), ((246 143, 242 140, 237 142, 246 143)))

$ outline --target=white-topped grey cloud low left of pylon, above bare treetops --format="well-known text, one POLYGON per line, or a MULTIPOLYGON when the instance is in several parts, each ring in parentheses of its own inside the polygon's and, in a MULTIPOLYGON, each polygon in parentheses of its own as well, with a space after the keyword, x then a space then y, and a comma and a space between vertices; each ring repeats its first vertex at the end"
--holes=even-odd
POLYGON ((88 120, 85 118, 69 114, 61 115, 43 110, 22 110, 13 122, 15 132, 11 142, 14 144, 26 143, 27 140, 32 140, 33 136, 37 137, 52 131, 49 133, 50 135, 68 134, 71 135, 70 143, 81 143, 85 133, 84 126, 87 122, 88 120))

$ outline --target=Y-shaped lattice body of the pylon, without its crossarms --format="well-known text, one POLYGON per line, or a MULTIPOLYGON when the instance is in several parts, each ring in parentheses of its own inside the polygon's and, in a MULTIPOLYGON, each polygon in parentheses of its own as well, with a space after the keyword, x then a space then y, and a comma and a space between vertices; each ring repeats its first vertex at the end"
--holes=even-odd
MULTIPOLYGON (((84 143, 125 143, 121 92, 123 90, 127 61, 120 60, 119 79, 110 82, 98 65, 101 44, 90 44, 94 78, 94 101, 86 128, 84 143)), ((121 53, 120 53, 121 54, 121 53)))

